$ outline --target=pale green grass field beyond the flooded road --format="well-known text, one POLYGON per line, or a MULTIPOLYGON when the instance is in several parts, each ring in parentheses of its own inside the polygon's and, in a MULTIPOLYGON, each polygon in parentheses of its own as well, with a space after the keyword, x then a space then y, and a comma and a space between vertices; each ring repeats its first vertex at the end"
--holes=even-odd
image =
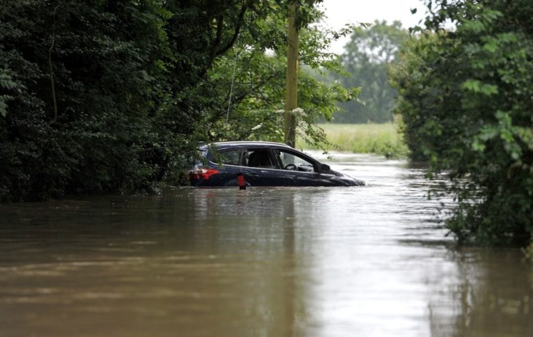
MULTIPOLYGON (((330 142, 337 147, 325 146, 325 149, 340 149, 360 154, 380 154, 387 158, 404 158, 407 146, 396 129, 396 124, 320 124, 330 142)), ((307 144, 298 147, 311 149, 307 144)), ((316 148, 316 147, 315 147, 316 148)))

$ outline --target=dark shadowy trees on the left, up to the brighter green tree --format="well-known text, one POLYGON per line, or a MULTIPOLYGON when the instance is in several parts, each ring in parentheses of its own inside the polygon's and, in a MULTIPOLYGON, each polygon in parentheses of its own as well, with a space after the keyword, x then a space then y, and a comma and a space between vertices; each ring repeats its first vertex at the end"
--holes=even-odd
POLYGON ((204 133, 186 94, 258 1, 215 2, 0 1, 0 200, 147 190, 183 168, 204 133))

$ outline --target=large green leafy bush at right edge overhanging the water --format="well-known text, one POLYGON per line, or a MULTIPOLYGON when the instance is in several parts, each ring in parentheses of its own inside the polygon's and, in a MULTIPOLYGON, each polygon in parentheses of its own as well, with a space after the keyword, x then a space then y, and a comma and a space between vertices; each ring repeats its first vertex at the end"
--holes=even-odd
POLYGON ((527 245, 533 237, 533 3, 429 1, 430 29, 394 71, 407 144, 447 172, 462 241, 527 245), (433 6, 432 6, 433 5, 433 6), (437 6, 437 7, 435 7, 437 6), (457 28, 446 30, 450 22, 457 28))

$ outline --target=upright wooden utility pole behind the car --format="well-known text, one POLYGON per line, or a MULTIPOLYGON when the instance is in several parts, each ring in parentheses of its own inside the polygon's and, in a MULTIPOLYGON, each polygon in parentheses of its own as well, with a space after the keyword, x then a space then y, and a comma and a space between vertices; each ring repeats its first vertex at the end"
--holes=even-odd
POLYGON ((300 45, 299 31, 296 27, 298 0, 289 6, 289 33, 287 41, 287 76, 285 81, 285 143, 291 147, 296 145, 296 115, 292 110, 298 107, 298 48, 300 45))

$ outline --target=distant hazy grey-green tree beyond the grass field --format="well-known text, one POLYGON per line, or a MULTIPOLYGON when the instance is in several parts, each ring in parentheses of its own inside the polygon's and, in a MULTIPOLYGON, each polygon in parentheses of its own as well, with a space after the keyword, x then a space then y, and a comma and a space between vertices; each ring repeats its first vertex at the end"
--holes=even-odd
POLYGON ((342 103, 337 123, 391 122, 396 90, 389 83, 388 68, 400 45, 409 37, 400 22, 375 21, 369 28, 357 28, 341 54, 346 76, 333 78, 346 87, 361 87, 359 100, 342 103))

